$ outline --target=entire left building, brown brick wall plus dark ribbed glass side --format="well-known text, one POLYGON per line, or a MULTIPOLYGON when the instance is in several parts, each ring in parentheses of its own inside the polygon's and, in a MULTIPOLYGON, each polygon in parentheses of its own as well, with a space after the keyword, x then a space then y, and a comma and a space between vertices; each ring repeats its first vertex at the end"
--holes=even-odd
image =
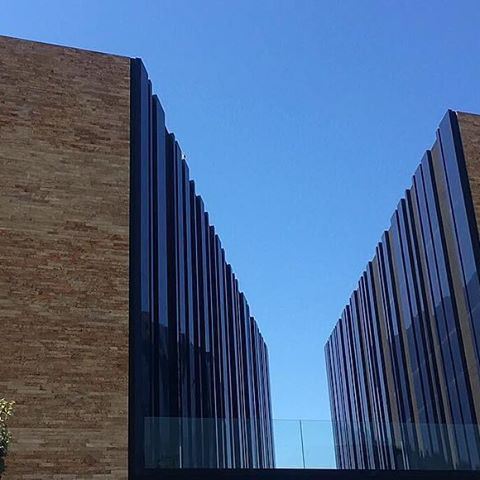
POLYGON ((0 37, 8 478, 268 467, 268 352, 138 59, 0 37))

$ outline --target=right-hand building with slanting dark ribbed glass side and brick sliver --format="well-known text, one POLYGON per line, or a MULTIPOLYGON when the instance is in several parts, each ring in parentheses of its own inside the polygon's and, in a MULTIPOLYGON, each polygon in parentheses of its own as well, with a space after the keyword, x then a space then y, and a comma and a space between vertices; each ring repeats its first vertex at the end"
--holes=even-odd
POLYGON ((325 346, 339 468, 480 468, 480 116, 449 111, 325 346))

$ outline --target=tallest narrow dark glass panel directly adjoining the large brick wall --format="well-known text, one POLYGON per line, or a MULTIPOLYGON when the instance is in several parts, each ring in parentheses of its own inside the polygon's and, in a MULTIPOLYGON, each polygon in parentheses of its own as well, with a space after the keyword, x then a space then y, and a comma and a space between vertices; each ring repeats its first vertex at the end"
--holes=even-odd
POLYGON ((140 60, 131 62, 129 470, 143 470, 143 419, 152 411, 150 85, 140 60))

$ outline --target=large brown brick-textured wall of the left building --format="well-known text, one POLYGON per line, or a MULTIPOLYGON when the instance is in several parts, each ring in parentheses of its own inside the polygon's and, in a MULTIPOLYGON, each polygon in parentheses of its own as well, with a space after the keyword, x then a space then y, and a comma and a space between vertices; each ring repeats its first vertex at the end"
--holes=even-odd
POLYGON ((130 59, 0 37, 6 480, 124 479, 130 59))

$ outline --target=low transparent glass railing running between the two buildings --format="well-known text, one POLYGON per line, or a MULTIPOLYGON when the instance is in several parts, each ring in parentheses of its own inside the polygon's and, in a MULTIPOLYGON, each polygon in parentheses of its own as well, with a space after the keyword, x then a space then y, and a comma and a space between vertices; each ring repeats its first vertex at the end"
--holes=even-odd
POLYGON ((145 418, 146 469, 480 470, 478 425, 145 418))

